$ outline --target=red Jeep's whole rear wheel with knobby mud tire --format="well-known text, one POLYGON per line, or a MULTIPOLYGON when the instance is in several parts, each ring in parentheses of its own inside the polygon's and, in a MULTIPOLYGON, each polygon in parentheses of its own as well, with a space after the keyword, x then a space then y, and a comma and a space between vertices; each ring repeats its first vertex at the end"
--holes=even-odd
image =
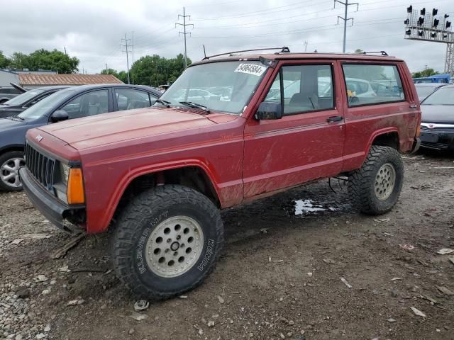
POLYGON ((399 152, 372 145, 362 167, 350 173, 348 193, 360 212, 382 215, 397 203, 403 182, 404 164, 399 152))

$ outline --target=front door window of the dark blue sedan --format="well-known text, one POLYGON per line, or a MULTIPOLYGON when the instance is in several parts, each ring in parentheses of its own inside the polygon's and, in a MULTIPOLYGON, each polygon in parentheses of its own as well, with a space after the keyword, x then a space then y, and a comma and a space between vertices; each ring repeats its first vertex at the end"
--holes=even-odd
POLYGON ((82 94, 61 108, 70 119, 109 112, 109 91, 96 90, 82 94))

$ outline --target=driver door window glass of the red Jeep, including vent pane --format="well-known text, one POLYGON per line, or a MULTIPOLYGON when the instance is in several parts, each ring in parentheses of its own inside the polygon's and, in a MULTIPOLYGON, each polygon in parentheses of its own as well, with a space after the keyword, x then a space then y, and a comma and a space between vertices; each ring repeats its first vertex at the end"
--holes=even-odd
POLYGON ((268 91, 267 102, 282 102, 284 115, 334 108, 330 65, 284 66, 268 91), (282 86, 281 89, 281 78, 282 86), (281 101, 281 94, 284 94, 281 101))

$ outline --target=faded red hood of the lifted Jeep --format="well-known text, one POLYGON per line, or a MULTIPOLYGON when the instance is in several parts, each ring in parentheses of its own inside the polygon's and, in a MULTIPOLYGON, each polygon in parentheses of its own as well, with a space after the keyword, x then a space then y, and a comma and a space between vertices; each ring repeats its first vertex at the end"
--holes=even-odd
POLYGON ((216 124, 198 113, 173 108, 140 108, 67 120, 40 130, 80 150, 216 124))

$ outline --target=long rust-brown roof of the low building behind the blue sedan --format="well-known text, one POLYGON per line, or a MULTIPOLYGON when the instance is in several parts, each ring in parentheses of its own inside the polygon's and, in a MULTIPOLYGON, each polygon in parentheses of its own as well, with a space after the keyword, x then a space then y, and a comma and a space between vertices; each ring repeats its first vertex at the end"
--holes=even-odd
POLYGON ((123 84, 113 74, 18 74, 19 84, 28 89, 52 85, 123 84))

